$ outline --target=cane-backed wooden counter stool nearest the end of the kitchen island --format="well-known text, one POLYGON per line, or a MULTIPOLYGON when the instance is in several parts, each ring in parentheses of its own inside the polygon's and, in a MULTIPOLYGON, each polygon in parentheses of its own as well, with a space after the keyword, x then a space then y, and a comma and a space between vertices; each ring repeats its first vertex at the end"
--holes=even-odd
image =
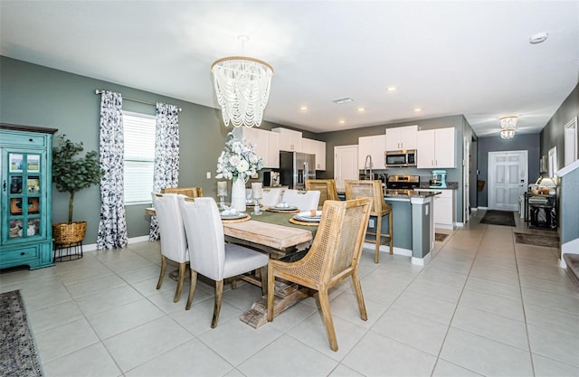
POLYGON ((380 258, 380 245, 389 244, 390 254, 394 251, 393 233, 392 233, 392 205, 384 201, 384 193, 382 191, 382 181, 374 180, 346 180, 346 200, 355 199, 361 196, 373 198, 374 203, 370 216, 375 216, 376 227, 375 231, 367 231, 365 241, 375 243, 374 261, 378 263, 380 258), (384 216, 388 216, 388 232, 382 231, 382 220, 384 216))

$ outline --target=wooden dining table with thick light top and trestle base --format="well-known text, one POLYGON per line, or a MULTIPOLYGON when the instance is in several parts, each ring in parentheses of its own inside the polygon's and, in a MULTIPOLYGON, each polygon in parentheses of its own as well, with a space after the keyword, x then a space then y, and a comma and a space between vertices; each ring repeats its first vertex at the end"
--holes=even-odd
MULTIPOLYGON (((298 211, 283 211, 262 209, 261 214, 251 212, 241 219, 222 220, 225 240, 242 244, 255 250, 269 254, 272 259, 293 261, 305 255, 318 231, 318 222, 296 221, 298 211)), ((154 216, 155 209, 146 208, 145 212, 154 216)), ((244 275, 242 279, 261 287, 261 278, 244 275)), ((275 282, 275 299, 273 315, 277 316, 283 310, 298 303, 313 294, 307 287, 296 284, 275 282)), ((242 322, 258 328, 267 322, 267 297, 264 295, 253 303, 252 307, 240 317, 242 322)))

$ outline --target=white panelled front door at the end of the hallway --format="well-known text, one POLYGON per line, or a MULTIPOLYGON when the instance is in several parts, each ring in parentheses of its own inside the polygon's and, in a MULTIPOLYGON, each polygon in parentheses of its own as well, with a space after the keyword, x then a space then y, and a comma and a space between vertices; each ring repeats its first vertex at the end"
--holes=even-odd
POLYGON ((518 211, 527 181, 527 151, 489 152, 489 209, 518 211))

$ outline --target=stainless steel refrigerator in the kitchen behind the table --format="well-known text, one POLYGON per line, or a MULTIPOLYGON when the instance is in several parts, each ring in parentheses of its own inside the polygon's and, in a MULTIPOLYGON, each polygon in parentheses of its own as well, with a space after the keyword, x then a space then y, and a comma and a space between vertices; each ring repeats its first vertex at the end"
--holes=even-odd
POLYGON ((280 152, 280 184, 306 190, 306 179, 316 178, 316 155, 280 152))

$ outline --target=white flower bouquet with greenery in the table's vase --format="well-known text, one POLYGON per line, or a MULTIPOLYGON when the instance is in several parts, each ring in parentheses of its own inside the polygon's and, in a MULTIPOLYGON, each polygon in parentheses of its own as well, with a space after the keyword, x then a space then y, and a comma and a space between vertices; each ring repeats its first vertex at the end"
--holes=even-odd
POLYGON ((257 174, 263 165, 263 160, 253 151, 253 146, 245 138, 237 140, 233 133, 227 134, 231 140, 225 143, 225 149, 217 159, 217 175, 215 178, 242 178, 247 182, 250 176, 257 174))

